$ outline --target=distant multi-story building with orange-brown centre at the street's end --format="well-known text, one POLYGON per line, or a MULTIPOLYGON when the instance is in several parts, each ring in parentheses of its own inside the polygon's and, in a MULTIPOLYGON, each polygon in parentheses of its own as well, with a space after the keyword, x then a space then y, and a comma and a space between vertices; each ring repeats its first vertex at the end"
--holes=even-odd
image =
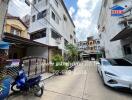
POLYGON ((80 57, 85 59, 98 59, 98 55, 101 54, 100 40, 94 39, 93 36, 88 37, 87 41, 77 42, 78 51, 80 52, 80 57))

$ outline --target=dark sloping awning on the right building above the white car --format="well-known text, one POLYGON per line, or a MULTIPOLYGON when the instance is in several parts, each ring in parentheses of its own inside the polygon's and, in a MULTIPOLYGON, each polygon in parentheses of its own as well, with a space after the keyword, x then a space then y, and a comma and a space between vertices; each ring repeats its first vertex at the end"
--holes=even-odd
POLYGON ((125 38, 128 38, 129 36, 132 36, 132 28, 124 28, 121 32, 119 32, 110 41, 116 41, 116 40, 120 40, 120 39, 125 39, 125 38))

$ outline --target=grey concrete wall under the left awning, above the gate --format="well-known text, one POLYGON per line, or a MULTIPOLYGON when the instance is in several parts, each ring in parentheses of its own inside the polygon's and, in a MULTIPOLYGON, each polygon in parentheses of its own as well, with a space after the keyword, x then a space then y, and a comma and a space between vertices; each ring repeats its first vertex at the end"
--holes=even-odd
POLYGON ((48 59, 48 47, 29 47, 27 48, 27 56, 37 56, 48 59))

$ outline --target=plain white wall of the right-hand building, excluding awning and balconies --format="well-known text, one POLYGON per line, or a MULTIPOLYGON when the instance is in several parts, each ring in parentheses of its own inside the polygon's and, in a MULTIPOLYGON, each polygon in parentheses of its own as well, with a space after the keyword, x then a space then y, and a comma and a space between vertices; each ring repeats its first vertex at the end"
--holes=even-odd
POLYGON ((119 17, 111 16, 111 8, 116 5, 113 1, 114 0, 102 0, 102 7, 98 21, 101 44, 105 49, 107 58, 123 57, 121 41, 110 41, 122 29, 118 24, 119 17))

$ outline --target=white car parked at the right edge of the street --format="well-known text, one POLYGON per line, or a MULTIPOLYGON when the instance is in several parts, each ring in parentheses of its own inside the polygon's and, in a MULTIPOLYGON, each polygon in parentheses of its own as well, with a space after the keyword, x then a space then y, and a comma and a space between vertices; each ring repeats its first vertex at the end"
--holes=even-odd
POLYGON ((97 70, 105 85, 132 90, 132 63, 123 58, 103 59, 97 63, 97 70))

